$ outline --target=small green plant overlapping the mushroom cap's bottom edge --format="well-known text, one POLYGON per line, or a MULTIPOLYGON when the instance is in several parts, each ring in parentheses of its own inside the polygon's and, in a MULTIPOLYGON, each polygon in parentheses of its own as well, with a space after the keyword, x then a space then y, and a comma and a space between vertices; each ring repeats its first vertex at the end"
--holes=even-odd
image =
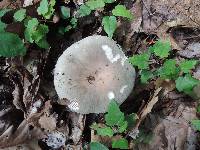
MULTIPOLYGON (((105 124, 93 123, 91 128, 96 130, 97 134, 100 136, 109 136, 113 138, 115 135, 125 133, 130 126, 135 124, 136 119, 137 117, 134 113, 125 116, 125 114, 120 111, 119 105, 112 100, 105 115, 105 124)), ((112 140, 112 148, 128 149, 127 139, 122 136, 120 139, 112 140)))

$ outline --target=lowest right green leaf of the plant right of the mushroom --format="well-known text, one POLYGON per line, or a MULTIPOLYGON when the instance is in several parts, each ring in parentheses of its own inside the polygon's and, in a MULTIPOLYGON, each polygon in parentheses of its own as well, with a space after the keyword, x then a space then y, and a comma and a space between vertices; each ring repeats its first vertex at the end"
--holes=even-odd
POLYGON ((178 77, 176 80, 176 88, 179 92, 190 92, 199 83, 199 80, 193 78, 190 74, 184 77, 178 77))

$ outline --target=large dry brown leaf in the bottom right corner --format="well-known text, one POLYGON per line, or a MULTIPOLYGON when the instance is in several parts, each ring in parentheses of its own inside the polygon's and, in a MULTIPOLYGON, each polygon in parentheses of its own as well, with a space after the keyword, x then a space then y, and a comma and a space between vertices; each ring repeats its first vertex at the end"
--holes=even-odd
POLYGON ((193 102, 184 103, 172 100, 171 106, 164 108, 161 113, 152 113, 145 120, 145 126, 153 129, 153 139, 149 144, 140 143, 139 150, 177 149, 195 150, 197 148, 197 133, 190 124, 196 119, 196 110, 193 102), (191 105, 192 104, 192 105, 191 105), (171 109, 168 111, 168 109, 171 109), (168 114, 165 112, 169 112, 168 114), (166 114, 163 116, 163 114, 166 114))

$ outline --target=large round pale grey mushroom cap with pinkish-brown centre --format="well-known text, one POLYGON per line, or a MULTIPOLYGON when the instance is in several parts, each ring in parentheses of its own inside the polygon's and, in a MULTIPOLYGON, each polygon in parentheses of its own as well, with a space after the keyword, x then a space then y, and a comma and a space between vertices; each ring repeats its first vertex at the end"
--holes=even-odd
POLYGON ((67 48, 54 71, 60 99, 81 114, 104 113, 110 100, 121 104, 131 93, 135 69, 122 49, 106 36, 89 36, 67 48))

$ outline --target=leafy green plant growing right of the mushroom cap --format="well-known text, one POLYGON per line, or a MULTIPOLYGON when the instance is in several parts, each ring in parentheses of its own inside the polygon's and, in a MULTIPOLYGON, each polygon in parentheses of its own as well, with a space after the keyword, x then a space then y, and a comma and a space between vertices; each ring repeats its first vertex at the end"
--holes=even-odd
POLYGON ((177 62, 175 59, 166 59, 169 56, 170 49, 169 40, 158 40, 147 52, 133 55, 129 58, 129 61, 132 65, 140 69, 141 83, 148 83, 149 80, 155 77, 163 80, 174 80, 179 92, 193 96, 193 88, 200 81, 192 77, 191 70, 195 68, 198 61, 183 60, 177 62), (162 59, 164 62, 154 72, 149 70, 150 58, 153 56, 158 56, 158 59, 162 59))

